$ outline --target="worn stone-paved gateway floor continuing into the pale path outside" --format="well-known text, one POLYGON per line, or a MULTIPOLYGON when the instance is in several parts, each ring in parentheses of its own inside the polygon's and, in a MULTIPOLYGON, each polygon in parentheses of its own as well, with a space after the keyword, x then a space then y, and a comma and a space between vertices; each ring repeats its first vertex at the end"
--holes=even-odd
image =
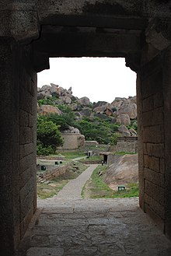
POLYGON ((16 255, 170 256, 169 240, 138 207, 138 198, 78 196, 75 186, 81 188, 93 169, 72 181, 72 187, 68 184, 73 188, 71 196, 65 188, 61 196, 38 202, 37 214, 16 255))

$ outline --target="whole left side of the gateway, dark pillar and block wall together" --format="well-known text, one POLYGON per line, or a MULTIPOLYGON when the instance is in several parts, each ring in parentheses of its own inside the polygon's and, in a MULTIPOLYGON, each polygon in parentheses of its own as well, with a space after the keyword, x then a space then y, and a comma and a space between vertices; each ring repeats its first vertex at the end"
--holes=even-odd
POLYGON ((0 249, 12 255, 37 208, 37 74, 30 51, 0 37, 0 249))

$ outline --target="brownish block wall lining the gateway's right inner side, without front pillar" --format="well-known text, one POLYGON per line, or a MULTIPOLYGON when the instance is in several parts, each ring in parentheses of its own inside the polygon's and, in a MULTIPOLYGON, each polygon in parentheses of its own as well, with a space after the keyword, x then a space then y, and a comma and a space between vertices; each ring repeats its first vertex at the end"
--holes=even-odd
MULTIPOLYGON (((138 96, 140 91, 138 89, 138 96)), ((141 68, 140 205, 165 229, 165 111, 162 55, 145 59, 141 68)))

